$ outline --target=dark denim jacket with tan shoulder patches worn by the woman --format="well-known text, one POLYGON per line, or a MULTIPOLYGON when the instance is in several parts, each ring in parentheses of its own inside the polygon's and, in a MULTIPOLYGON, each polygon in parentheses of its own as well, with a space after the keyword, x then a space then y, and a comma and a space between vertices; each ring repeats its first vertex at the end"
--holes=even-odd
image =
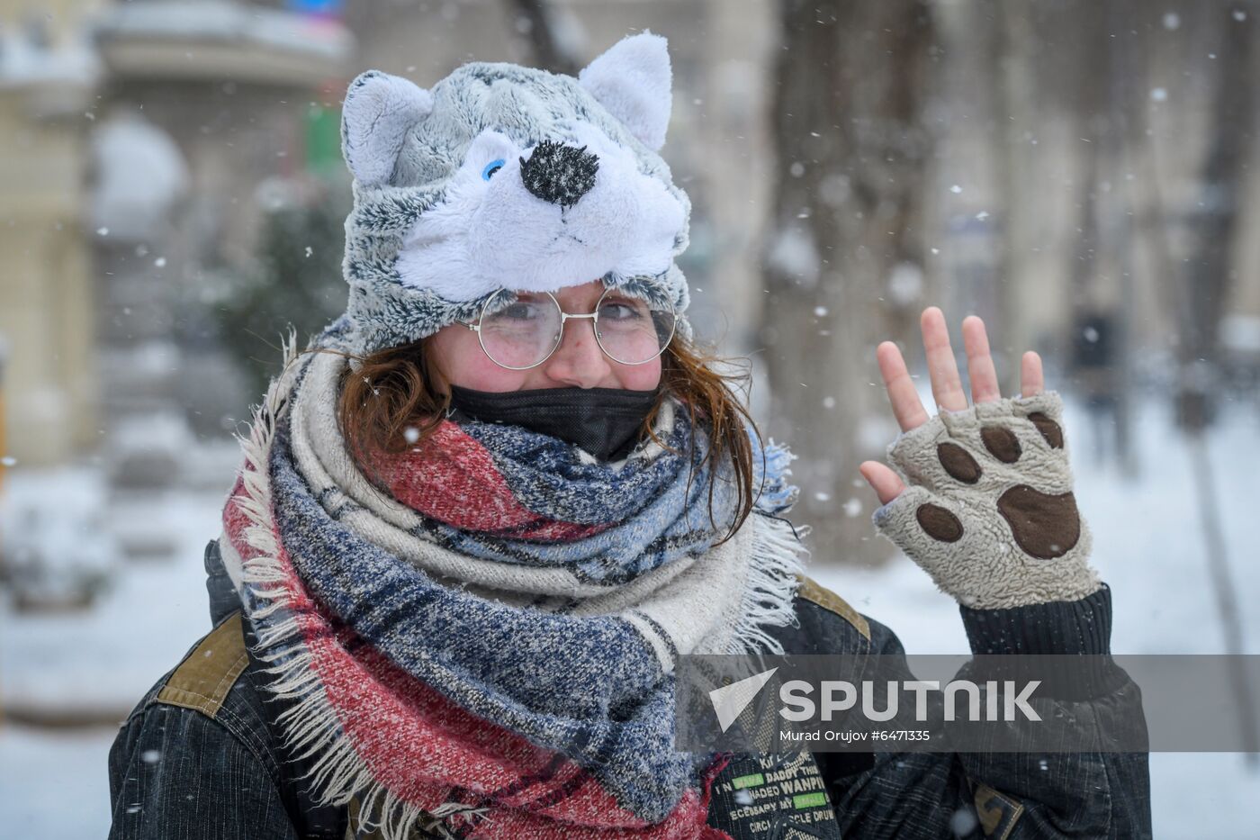
MULTIPOLYGON (((239 618, 214 542, 207 570, 217 629, 158 681, 110 752, 111 840, 373 836, 348 834, 349 808, 311 801, 302 782, 309 766, 285 754, 275 723, 281 708, 248 656, 248 622, 239 618), (244 643, 228 645, 226 633, 243 633, 244 643)), ((1105 650, 1110 633, 1105 589, 1072 604, 961 612, 978 652, 1104 652, 1094 648, 1105 650)), ((902 652, 892 631, 811 581, 801 586, 796 614, 800 627, 779 634, 788 652, 902 652)), ((1087 703, 1142 715, 1131 682, 1087 703)), ((743 755, 716 779, 709 822, 737 840, 1152 835, 1144 753, 804 753, 777 762, 743 755), (799 766, 781 769, 788 762, 799 766), (732 782, 775 769, 822 785, 825 801, 748 816, 741 808, 748 796, 732 782)))

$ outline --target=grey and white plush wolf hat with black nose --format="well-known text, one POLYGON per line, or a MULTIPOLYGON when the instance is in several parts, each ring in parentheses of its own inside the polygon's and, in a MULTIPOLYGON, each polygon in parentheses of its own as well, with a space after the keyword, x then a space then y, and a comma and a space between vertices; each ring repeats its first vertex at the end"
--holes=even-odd
MULTIPOLYGON (((354 175, 339 322, 367 354, 475 319, 501 289, 602 280, 687 308, 674 259, 690 201, 658 154, 672 105, 667 42, 624 38, 577 78, 474 62, 432 88, 358 76, 341 111, 354 175)), ((678 329, 690 334, 685 318, 678 329)))

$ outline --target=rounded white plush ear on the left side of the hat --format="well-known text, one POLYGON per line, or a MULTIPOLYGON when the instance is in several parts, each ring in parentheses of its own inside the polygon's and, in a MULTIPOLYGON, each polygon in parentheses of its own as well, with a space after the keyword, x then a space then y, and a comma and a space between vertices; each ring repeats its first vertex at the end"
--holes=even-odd
POLYGON ((433 110, 433 95, 415 82, 367 71, 350 82, 341 105, 341 154, 354 179, 389 180, 407 131, 433 110))

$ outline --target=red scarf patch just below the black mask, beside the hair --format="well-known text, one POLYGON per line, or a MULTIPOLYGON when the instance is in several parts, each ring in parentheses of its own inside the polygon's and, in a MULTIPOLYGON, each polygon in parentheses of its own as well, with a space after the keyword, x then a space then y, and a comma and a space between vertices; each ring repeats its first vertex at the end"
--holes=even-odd
POLYGON ((486 448, 450 420, 418 446, 377 454, 373 467, 394 498, 451 527, 556 542, 609 527, 561 522, 520 505, 486 448))

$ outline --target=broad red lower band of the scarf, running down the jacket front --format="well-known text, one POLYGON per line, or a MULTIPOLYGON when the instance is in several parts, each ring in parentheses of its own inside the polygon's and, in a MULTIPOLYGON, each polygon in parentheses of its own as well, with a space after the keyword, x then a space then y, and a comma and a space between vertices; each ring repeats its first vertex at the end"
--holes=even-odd
MULTIPOLYGON (((224 510, 228 539, 248 563, 260 555, 244 539, 249 520, 234 497, 224 510)), ((706 824, 713 778, 719 761, 702 776, 699 790, 688 788, 669 816, 649 825, 620 807, 615 797, 576 762, 483 720, 394 666, 368 645, 357 655, 345 650, 349 633, 336 633, 306 593, 272 516, 280 546, 278 565, 285 607, 297 621, 311 667, 343 733, 372 777, 401 800, 426 811, 451 801, 456 788, 481 797, 510 790, 498 800, 484 800, 485 816, 455 816, 467 837, 544 840, 568 837, 649 837, 653 840, 730 840, 706 824), (544 772, 553 769, 554 772, 544 772), (564 788, 552 802, 549 795, 564 788), (546 803, 539 806, 538 803, 546 803)), ((471 802, 470 805, 481 805, 471 802)))

